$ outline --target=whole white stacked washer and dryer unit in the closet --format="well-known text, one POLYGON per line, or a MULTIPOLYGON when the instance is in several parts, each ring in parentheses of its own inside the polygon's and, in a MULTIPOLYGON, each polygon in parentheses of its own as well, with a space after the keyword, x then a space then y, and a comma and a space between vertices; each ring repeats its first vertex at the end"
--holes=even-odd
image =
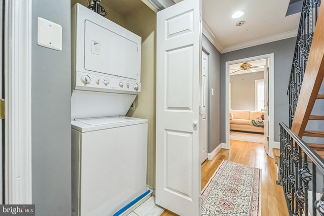
POLYGON ((148 193, 147 120, 126 116, 141 38, 79 4, 71 27, 72 215, 110 216, 148 193))

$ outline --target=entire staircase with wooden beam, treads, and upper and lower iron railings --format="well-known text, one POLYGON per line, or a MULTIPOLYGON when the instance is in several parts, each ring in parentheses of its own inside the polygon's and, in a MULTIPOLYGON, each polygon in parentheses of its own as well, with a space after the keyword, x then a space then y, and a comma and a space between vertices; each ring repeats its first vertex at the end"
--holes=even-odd
POLYGON ((304 0, 288 87, 290 122, 279 123, 280 153, 274 150, 290 215, 324 216, 324 6, 319 6, 320 0, 304 0))

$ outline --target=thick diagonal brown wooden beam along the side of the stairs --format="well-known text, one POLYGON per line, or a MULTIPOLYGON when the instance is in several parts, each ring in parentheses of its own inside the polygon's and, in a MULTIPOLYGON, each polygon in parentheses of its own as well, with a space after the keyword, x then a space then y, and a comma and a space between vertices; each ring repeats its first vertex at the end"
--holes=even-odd
POLYGON ((292 131, 303 137, 324 76, 324 6, 320 6, 292 131))

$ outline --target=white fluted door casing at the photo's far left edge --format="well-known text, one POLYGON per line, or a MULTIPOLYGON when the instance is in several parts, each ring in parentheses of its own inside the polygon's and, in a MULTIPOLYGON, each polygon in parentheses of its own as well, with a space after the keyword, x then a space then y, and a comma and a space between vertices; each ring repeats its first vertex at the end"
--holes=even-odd
POLYGON ((32 1, 5 5, 5 204, 32 204, 32 1))

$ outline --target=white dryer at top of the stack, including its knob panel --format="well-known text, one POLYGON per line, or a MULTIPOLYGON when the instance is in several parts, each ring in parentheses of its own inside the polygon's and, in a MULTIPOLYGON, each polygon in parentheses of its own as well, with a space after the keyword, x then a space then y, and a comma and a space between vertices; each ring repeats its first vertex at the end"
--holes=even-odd
POLYGON ((75 4, 71 11, 71 92, 139 93, 141 41, 133 32, 75 4))

